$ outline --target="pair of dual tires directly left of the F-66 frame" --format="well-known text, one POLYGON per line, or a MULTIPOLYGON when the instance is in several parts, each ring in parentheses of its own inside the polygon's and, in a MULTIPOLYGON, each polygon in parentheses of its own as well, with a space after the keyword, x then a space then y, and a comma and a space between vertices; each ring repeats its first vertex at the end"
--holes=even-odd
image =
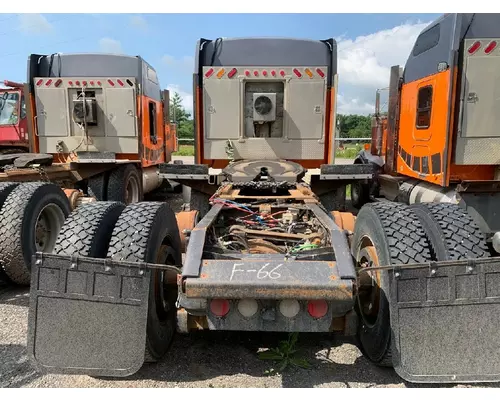
MULTIPOLYGON (((96 202, 78 207, 66 220, 55 254, 111 258, 116 261, 182 264, 175 214, 166 203, 96 202)), ((145 361, 161 359, 176 327, 177 284, 151 273, 145 361)))

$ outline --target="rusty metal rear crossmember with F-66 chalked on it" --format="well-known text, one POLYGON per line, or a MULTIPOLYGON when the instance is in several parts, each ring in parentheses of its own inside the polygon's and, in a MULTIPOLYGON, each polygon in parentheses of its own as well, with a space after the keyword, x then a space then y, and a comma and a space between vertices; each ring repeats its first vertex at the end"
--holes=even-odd
POLYGON ((335 300, 344 312, 353 301, 353 282, 325 261, 204 260, 200 277, 184 288, 193 298, 335 300))

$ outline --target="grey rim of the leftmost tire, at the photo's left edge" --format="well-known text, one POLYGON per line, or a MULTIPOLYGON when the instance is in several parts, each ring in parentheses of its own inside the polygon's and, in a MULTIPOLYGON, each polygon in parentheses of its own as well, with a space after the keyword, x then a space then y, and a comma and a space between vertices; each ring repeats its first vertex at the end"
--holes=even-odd
POLYGON ((57 235, 59 235, 65 219, 63 211, 56 204, 48 204, 42 208, 35 222, 37 252, 51 253, 54 250, 57 235))

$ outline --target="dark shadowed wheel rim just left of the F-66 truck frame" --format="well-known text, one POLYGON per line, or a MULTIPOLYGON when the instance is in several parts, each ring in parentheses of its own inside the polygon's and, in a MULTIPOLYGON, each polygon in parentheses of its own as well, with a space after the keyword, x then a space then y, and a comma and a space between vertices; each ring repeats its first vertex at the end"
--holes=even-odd
MULTIPOLYGON (((162 265, 175 265, 174 251, 171 246, 162 245, 158 251, 156 262, 162 265)), ((165 271, 155 270, 153 272, 156 314, 161 324, 165 324, 171 319, 175 312, 172 301, 175 301, 174 295, 177 297, 175 284, 167 282, 166 278, 165 271)))

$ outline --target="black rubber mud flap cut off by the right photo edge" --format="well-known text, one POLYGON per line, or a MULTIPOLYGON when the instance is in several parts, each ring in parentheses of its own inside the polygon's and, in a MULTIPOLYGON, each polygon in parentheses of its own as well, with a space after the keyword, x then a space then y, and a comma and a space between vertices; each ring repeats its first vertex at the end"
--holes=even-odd
POLYGON ((500 381, 500 261, 389 271, 394 369, 409 382, 500 381))

